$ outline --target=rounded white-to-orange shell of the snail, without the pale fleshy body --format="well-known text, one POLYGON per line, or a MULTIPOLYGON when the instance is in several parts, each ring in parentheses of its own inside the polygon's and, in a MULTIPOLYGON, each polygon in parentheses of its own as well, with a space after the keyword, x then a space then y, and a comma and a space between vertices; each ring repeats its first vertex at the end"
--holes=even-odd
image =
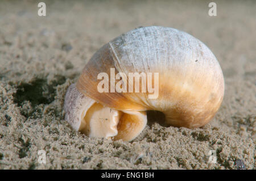
POLYGON ((127 32, 100 48, 76 87, 115 110, 156 110, 164 113, 168 125, 197 128, 220 107, 224 77, 216 57, 200 40, 174 28, 152 26, 127 32), (97 75, 110 77, 110 68, 115 68, 115 74, 159 73, 158 98, 148 99, 147 92, 98 92, 97 75))

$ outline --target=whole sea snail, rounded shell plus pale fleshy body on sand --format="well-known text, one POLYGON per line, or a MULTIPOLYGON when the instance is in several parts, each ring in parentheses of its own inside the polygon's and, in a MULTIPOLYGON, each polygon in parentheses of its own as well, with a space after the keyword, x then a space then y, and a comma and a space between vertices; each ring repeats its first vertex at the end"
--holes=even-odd
MULTIPOLYGON (((131 83, 133 79, 127 87, 131 83)), ((223 96, 220 65, 205 44, 174 28, 142 27, 116 37, 93 55, 76 85, 68 88, 65 120, 88 136, 131 141, 146 126, 147 110, 163 112, 168 125, 197 128, 213 118, 223 96), (158 97, 150 99, 148 92, 99 92, 102 79, 97 76, 111 77, 111 68, 127 77, 159 73, 158 97)))

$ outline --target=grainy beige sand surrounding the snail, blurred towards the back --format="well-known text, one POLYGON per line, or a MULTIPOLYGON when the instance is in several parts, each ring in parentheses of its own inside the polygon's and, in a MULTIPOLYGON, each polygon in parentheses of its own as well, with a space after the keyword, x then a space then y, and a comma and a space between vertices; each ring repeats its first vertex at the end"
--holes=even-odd
POLYGON ((214 1, 212 17, 211 1, 43 1, 42 17, 39 2, 0 2, 0 169, 237 169, 240 160, 255 169, 255 1, 214 1), (151 123, 132 142, 73 131, 64 95, 86 61, 152 25, 188 32, 217 57, 225 96, 214 119, 193 130, 151 123))

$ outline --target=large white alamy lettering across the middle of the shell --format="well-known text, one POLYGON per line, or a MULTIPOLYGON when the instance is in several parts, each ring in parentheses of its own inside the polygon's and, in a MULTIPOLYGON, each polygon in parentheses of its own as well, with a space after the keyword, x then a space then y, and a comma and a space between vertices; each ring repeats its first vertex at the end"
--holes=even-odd
POLYGON ((101 80, 97 86, 100 93, 109 92, 110 83, 110 92, 147 92, 149 99, 156 99, 159 95, 159 73, 136 72, 128 73, 127 77, 123 72, 115 74, 115 68, 110 68, 110 78, 103 72, 98 74, 97 79, 101 80))

